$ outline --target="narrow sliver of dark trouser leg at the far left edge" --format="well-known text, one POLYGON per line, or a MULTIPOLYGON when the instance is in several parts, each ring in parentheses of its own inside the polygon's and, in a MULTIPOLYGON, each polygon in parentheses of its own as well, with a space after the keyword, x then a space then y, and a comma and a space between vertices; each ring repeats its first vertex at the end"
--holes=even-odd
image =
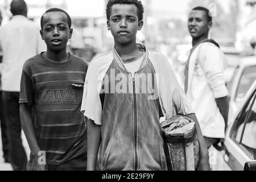
POLYGON ((5 162, 8 162, 10 161, 9 160, 9 139, 7 135, 7 123, 6 123, 4 114, 5 114, 5 111, 3 111, 2 91, 0 91, 0 123, 1 123, 3 159, 5 159, 5 162))

